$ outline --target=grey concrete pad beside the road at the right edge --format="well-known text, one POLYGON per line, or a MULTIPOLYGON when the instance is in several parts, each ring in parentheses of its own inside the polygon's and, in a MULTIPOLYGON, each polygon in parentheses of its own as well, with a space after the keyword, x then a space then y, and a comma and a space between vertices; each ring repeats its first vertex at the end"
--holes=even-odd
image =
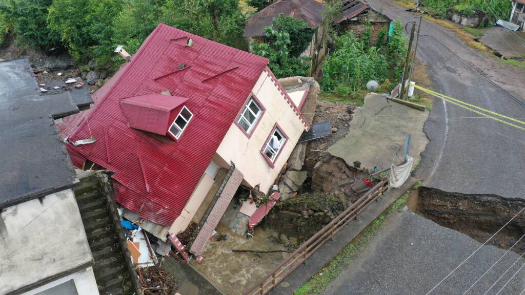
POLYGON ((525 57, 525 33, 511 31, 503 27, 492 27, 481 30, 485 35, 481 43, 496 50, 506 58, 525 57))

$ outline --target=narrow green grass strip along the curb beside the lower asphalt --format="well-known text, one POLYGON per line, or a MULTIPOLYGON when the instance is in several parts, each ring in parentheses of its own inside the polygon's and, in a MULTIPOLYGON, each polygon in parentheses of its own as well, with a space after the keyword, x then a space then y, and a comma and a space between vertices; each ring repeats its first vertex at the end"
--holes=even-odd
MULTIPOLYGON (((421 185, 421 183, 416 184, 416 186, 417 185, 421 185)), ((308 282, 297 289, 293 295, 313 295, 322 293, 328 285, 339 276, 339 273, 341 273, 341 271, 353 261, 361 250, 366 247, 370 239, 374 237, 377 231, 381 228, 386 217, 405 204, 409 193, 410 191, 407 191, 400 198, 396 199, 392 205, 388 206, 381 215, 379 215, 369 226, 365 227, 365 229, 361 231, 361 233, 357 235, 350 244, 346 245, 336 257, 328 262, 328 264, 308 282)))

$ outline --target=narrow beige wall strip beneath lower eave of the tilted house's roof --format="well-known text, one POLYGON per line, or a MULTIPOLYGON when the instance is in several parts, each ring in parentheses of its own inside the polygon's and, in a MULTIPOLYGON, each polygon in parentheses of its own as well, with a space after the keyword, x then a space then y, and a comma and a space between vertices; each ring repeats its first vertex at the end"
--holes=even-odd
POLYGON ((175 219, 170 230, 168 230, 170 234, 178 234, 186 229, 198 208, 204 201, 204 198, 206 197, 206 194, 208 193, 209 188, 212 187, 213 183, 214 179, 208 174, 204 173, 201 181, 199 181, 197 187, 195 187, 195 191, 193 191, 193 194, 186 203, 186 206, 184 206, 184 210, 182 210, 181 215, 175 219))

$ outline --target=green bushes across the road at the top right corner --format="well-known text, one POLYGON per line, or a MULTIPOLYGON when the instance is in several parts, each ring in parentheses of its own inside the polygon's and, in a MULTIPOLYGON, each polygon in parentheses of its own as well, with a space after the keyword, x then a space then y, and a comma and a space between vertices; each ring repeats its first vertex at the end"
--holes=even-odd
POLYGON ((425 7, 435 16, 445 17, 449 10, 456 10, 462 14, 474 14, 473 9, 487 13, 491 22, 498 18, 507 19, 512 4, 507 0, 426 0, 425 7))

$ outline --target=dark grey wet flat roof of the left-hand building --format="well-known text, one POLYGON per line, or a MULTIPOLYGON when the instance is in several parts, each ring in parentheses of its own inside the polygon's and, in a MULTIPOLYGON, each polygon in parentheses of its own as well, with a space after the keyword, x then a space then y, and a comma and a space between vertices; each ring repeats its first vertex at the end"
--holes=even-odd
POLYGON ((69 92, 43 94, 25 59, 0 62, 0 208, 76 180, 53 118, 78 112, 69 92))

